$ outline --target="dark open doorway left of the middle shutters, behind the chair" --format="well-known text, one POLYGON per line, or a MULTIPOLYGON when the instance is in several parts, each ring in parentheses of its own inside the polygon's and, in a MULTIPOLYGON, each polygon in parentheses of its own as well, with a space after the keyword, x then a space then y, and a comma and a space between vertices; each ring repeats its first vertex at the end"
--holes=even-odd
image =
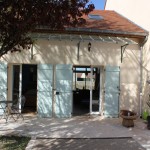
POLYGON ((26 101, 25 113, 36 112, 37 110, 37 65, 22 65, 22 95, 26 101))

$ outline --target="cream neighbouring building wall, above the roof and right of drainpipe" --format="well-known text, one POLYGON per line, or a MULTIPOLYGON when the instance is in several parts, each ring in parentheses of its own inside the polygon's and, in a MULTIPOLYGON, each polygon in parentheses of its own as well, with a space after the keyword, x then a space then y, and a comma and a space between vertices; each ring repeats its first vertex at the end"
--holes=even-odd
MULTIPOLYGON (((133 23, 138 26, 150 31, 150 20, 147 19, 150 17, 149 10, 149 0, 107 0, 105 9, 106 10, 115 10, 122 16, 130 19, 133 23)), ((150 87, 149 87, 149 77, 150 77, 150 38, 149 35, 146 37, 146 41, 142 48, 142 77, 141 77, 141 111, 148 109, 146 102, 149 100, 150 87)))

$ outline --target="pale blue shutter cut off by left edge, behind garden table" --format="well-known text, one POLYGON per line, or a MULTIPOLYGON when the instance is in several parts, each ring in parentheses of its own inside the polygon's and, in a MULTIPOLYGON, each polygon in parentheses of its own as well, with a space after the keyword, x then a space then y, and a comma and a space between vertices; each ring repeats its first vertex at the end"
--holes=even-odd
MULTIPOLYGON (((7 98, 7 64, 0 63, 0 95, 3 95, 5 100, 7 98)), ((3 111, 0 107, 0 115, 3 111)))

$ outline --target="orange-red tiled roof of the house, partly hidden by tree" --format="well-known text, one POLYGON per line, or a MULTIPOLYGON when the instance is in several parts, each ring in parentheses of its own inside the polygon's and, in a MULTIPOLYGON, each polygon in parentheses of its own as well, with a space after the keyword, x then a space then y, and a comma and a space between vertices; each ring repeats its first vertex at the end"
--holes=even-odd
POLYGON ((103 19, 90 19, 84 15, 86 23, 77 27, 66 27, 65 30, 51 30, 49 27, 37 28, 36 32, 44 33, 76 33, 76 34, 98 34, 109 36, 141 37, 148 35, 148 31, 139 27, 127 18, 111 10, 94 10, 90 14, 100 15, 103 19))

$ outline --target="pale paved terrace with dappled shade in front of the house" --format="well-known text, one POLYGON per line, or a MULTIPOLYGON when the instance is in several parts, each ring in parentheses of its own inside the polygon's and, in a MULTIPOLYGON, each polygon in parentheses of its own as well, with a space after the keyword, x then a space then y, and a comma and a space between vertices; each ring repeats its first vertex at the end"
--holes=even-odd
MULTIPOLYGON (((135 121, 134 128, 123 127, 121 118, 103 118, 100 116, 79 116, 66 119, 37 118, 25 116, 17 122, 0 120, 0 135, 30 136, 27 150, 35 149, 40 143, 57 138, 128 138, 132 137, 141 146, 150 150, 150 130, 142 119, 135 121)), ((69 142, 69 141, 68 141, 69 142)))

